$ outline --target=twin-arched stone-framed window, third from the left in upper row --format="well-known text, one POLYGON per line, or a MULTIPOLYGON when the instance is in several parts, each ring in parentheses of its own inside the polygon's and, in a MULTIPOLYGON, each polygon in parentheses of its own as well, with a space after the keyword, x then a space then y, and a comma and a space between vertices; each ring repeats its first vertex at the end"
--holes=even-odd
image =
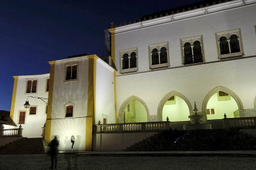
POLYGON ((194 36, 180 39, 182 64, 204 62, 203 36, 194 36))

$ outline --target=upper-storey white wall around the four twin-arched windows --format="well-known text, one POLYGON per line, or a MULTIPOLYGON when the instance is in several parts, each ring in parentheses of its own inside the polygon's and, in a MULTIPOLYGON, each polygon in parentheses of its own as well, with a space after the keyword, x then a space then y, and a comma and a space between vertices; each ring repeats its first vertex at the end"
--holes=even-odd
POLYGON ((205 61, 218 60, 215 33, 238 28, 241 28, 244 55, 255 55, 255 8, 256 4, 242 6, 134 31, 122 32, 122 28, 120 30, 117 28, 116 32, 120 33, 115 34, 116 68, 118 70, 120 68, 120 50, 137 47, 138 71, 147 71, 149 69, 148 45, 165 41, 169 43, 170 66, 181 66, 180 39, 199 35, 202 35, 204 39, 205 61))

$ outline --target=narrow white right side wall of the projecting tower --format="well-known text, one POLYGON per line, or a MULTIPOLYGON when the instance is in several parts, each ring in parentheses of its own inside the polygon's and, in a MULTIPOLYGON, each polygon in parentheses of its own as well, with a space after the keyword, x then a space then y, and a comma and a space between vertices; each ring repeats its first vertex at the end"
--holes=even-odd
POLYGON ((97 59, 95 123, 107 118, 107 124, 115 123, 114 69, 97 59))

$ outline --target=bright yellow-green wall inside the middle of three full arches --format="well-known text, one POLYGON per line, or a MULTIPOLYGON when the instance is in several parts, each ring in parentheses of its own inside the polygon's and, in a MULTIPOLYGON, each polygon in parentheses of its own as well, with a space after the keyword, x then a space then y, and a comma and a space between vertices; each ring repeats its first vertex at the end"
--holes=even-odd
POLYGON ((178 96, 175 96, 175 104, 164 104, 163 107, 163 121, 166 121, 166 117, 169 118, 170 122, 186 121, 190 120, 189 108, 186 102, 178 96))

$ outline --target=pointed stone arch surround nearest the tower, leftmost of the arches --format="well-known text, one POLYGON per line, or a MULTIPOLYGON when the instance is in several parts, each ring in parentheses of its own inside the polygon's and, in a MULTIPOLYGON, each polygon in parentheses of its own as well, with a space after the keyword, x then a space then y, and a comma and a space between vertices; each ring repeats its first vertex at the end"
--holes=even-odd
POLYGON ((140 101, 140 103, 143 104, 143 106, 145 107, 146 111, 147 111, 147 120, 148 120, 148 116, 149 116, 149 110, 148 110, 148 106, 147 104, 140 98, 137 96, 130 96, 128 97, 120 106, 120 109, 118 111, 118 123, 122 123, 123 121, 123 117, 124 117, 124 109, 127 106, 127 104, 129 104, 131 101, 133 100, 137 100, 140 101))

